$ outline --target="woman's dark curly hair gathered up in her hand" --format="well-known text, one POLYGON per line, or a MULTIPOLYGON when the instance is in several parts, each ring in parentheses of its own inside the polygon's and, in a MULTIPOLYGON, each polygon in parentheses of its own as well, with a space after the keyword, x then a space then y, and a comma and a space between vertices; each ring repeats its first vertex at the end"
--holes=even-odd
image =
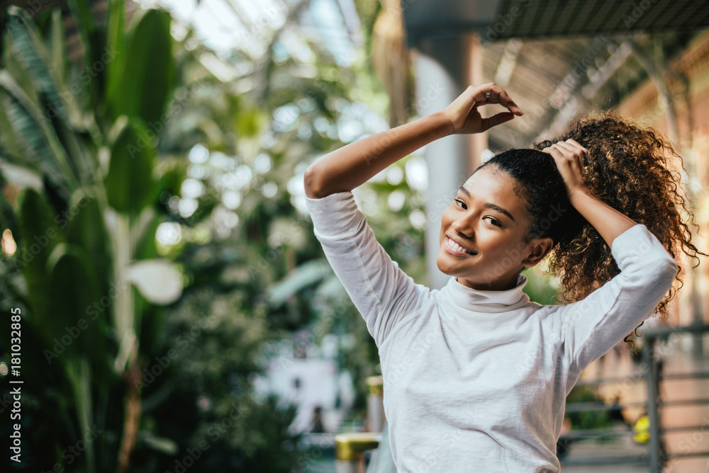
MULTIPOLYGON (((678 263, 679 286, 674 285, 655 309, 666 321, 667 304, 682 287, 686 272, 681 253, 696 261, 693 267, 699 264, 698 255, 709 256, 691 242, 690 227, 695 223, 681 189, 679 171, 685 171, 681 156, 654 130, 605 111, 575 122, 557 139, 535 142, 535 149, 511 149, 480 166, 496 165, 517 181, 516 190, 527 201, 532 222, 527 238, 552 237, 549 271, 561 278, 561 303, 584 299, 620 273, 603 237, 571 206, 554 159, 541 151, 566 139, 588 150, 584 184, 591 193, 644 224, 678 263)), ((632 337, 639 336, 643 323, 623 338, 630 348, 635 348, 632 337)))

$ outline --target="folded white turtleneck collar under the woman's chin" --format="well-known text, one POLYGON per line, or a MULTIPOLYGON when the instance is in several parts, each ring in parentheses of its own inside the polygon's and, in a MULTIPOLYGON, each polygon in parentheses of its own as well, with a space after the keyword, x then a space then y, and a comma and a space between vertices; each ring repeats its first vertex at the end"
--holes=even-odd
POLYGON ((475 312, 508 312, 530 302, 529 296, 522 291, 525 284, 527 276, 520 274, 517 285, 512 289, 486 291, 468 287, 455 280, 455 276, 451 276, 441 292, 444 297, 464 309, 475 312))

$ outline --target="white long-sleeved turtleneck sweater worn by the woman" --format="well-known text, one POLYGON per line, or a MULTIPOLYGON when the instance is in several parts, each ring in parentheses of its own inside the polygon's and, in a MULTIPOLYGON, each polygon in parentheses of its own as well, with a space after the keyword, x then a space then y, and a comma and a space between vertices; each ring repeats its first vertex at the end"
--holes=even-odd
POLYGON ((649 317, 676 263, 642 224, 611 246, 620 274, 567 305, 510 290, 414 283, 351 192, 306 197, 313 231, 379 348, 398 473, 559 472, 566 395, 649 317))

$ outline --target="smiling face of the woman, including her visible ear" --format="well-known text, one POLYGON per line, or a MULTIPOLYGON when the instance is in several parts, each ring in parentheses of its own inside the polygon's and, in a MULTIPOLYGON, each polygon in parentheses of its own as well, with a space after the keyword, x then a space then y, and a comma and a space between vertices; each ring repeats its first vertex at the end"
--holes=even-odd
POLYGON ((552 244, 549 238, 525 241, 530 221, 524 206, 508 173, 494 165, 476 171, 443 212, 438 268, 477 290, 515 287, 520 270, 534 266, 552 244), (467 251, 451 247, 452 241, 467 251))

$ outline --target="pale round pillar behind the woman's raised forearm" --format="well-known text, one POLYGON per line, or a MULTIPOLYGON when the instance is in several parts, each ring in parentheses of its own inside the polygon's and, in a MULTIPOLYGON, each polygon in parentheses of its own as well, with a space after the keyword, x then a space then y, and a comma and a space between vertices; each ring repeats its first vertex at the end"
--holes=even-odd
MULTIPOLYGON (((443 110, 469 85, 479 85, 481 54, 476 35, 457 38, 425 38, 414 47, 416 104, 418 115, 443 110)), ((483 113, 486 116, 485 113, 483 113)), ((440 289, 450 276, 442 273, 436 258, 443 211, 455 198, 457 189, 480 163, 487 147, 486 134, 452 135, 428 144, 424 149, 428 164, 428 199, 425 212, 426 269, 428 287, 440 289)))

